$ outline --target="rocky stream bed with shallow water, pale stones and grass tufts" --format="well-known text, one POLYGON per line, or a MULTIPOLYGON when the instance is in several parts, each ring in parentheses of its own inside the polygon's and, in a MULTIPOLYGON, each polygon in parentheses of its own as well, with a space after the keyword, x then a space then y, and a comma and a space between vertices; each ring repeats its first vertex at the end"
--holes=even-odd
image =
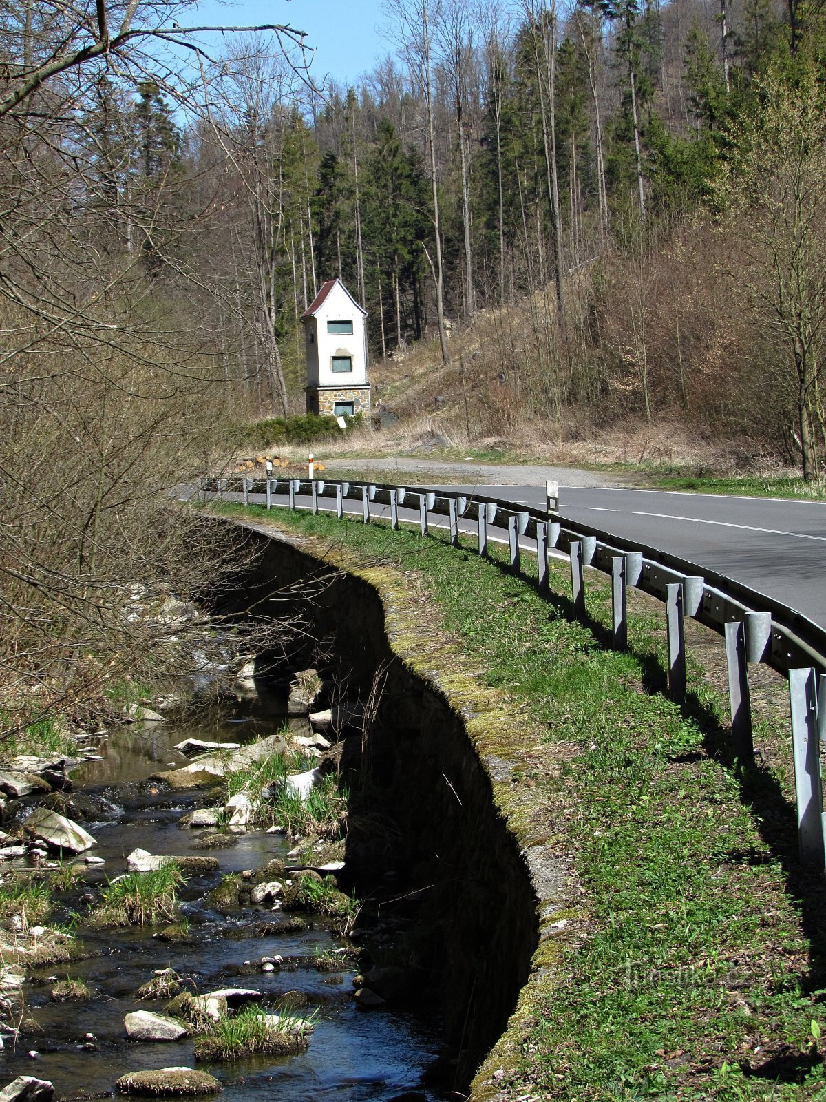
POLYGON ((370 903, 356 903, 343 842, 262 825, 258 801, 272 791, 228 795, 225 775, 273 747, 304 755, 306 768, 286 778, 298 802, 337 769, 357 710, 311 724, 319 688, 293 677, 289 702, 248 684, 209 716, 84 739, 76 765, 7 763, 2 1102, 445 1096, 426 1084, 441 1048, 437 1001, 395 953, 415 919, 399 904, 403 874, 382 874, 370 903), (169 869, 173 857, 185 877, 174 914, 115 925, 101 911, 111 882, 169 869), (19 884, 43 886, 42 919, 15 910, 19 884), (251 1018, 265 1050, 216 1058, 218 1022, 251 1018))

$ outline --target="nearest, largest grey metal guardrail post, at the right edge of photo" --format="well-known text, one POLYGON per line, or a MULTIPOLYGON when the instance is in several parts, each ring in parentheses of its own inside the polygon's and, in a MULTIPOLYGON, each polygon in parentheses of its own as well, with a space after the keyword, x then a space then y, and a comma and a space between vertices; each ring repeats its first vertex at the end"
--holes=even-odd
POLYGON ((820 780, 820 739, 817 715, 815 671, 789 671, 789 696, 792 704, 792 746, 794 787, 797 795, 797 838, 804 865, 824 867, 823 785, 820 780))

